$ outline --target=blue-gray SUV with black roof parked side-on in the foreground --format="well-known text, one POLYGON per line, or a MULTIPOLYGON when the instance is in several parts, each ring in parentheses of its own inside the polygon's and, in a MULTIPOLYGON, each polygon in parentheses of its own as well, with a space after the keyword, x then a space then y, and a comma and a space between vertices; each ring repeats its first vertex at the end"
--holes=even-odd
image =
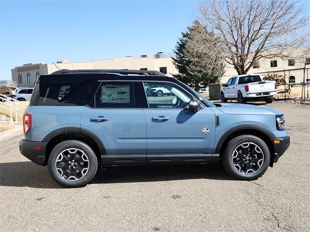
POLYGON ((87 185, 98 166, 219 160, 233 178, 253 180, 290 145, 282 112, 212 104, 181 81, 145 70, 41 75, 23 124, 21 154, 47 165, 66 187, 87 185), (169 93, 147 94, 154 86, 169 93))

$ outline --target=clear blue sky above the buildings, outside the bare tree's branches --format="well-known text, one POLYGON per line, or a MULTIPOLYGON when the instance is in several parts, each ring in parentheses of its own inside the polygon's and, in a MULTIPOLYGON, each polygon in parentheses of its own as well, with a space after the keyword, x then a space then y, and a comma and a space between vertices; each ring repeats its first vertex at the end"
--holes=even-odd
POLYGON ((0 80, 24 63, 172 52, 195 16, 196 0, 0 0, 0 80))

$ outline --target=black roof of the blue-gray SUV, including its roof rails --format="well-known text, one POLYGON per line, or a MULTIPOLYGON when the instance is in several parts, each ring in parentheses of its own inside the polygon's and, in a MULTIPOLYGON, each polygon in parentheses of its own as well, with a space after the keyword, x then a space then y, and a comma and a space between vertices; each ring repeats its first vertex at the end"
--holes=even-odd
POLYGON ((84 82, 88 80, 158 80, 179 83, 158 71, 151 70, 60 70, 49 75, 41 75, 37 82, 84 82))

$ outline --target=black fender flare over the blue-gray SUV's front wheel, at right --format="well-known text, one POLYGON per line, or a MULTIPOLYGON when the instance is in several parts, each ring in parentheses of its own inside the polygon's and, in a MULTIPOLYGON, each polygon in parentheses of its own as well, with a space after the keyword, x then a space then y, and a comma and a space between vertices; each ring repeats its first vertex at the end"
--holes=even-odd
POLYGON ((221 148, 225 142, 225 140, 232 135, 235 132, 242 131, 242 130, 253 130, 253 131, 258 131, 266 135, 269 139, 275 138, 275 135, 265 127, 261 125, 256 125, 256 124, 243 124, 243 125, 237 125, 233 128, 230 128, 228 131, 226 131, 222 137, 218 140, 216 144, 216 149, 213 153, 219 154, 221 151, 221 148))

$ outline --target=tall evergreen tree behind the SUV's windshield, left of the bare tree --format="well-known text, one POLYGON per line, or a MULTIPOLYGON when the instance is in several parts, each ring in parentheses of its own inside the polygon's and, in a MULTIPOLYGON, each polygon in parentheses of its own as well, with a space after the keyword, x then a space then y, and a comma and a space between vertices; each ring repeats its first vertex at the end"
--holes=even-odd
POLYGON ((201 85, 217 83, 225 70, 220 57, 212 56, 211 60, 211 56, 207 56, 210 52, 221 52, 214 46, 214 40, 216 40, 214 34, 206 31, 198 21, 195 21, 192 27, 188 27, 187 31, 181 34, 182 37, 179 38, 174 50, 175 58, 172 58, 179 74, 173 77, 194 87, 196 91, 201 85))

